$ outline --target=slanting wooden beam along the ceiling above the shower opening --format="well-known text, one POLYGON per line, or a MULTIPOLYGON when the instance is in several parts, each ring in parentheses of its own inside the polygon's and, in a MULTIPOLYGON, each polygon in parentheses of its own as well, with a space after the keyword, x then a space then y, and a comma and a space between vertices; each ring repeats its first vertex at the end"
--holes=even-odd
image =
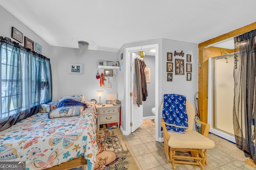
POLYGON ((228 32, 228 33, 225 33, 225 34, 223 34, 223 35, 220 35, 220 36, 218 36, 218 37, 215 37, 215 38, 213 38, 213 39, 209 39, 209 40, 207 40, 207 41, 204 41, 204 42, 198 44, 198 48, 200 48, 200 47, 205 47, 205 46, 211 45, 211 44, 213 44, 213 43, 218 43, 218 42, 220 42, 220 41, 223 41, 223 40, 228 39, 228 38, 235 37, 235 36, 237 36, 237 35, 241 35, 241 34, 243 34, 243 33, 246 33, 246 32, 248 32, 248 31, 251 31, 251 30, 253 30, 253 29, 256 29, 256 22, 251 23, 251 24, 249 24, 249 25, 246 25, 246 26, 244 26, 244 27, 235 29, 235 30, 233 30, 233 31, 230 31, 230 32, 228 32))

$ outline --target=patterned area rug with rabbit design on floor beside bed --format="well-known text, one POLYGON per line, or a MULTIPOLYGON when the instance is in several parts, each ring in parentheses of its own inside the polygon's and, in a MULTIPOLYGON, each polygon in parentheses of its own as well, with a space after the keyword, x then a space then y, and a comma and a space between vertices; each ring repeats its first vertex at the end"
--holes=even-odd
POLYGON ((139 170, 120 129, 100 129, 94 170, 139 170))

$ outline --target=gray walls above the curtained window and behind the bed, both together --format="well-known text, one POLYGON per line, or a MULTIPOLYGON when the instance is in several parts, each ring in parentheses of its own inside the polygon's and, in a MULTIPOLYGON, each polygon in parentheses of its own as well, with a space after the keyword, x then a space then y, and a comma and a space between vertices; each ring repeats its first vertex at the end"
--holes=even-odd
MULTIPOLYGON (((53 101, 58 100, 58 98, 62 96, 76 94, 83 94, 88 101, 91 99, 99 101, 99 98, 96 96, 96 90, 104 90, 104 96, 101 98, 101 102, 105 102, 108 93, 117 93, 117 70, 114 70, 114 73, 116 74, 116 81, 114 82, 113 78, 110 77, 110 83, 112 85, 111 89, 106 88, 106 81, 104 81, 105 87, 100 88, 100 79, 96 79, 97 70, 101 73, 101 69, 97 68, 97 61, 116 61, 117 53, 88 50, 85 55, 82 55, 78 49, 50 46, 12 14, 2 8, 2 6, 0 6, 0 16, 4 16, 0 18, 0 36, 11 38, 13 26, 22 32, 23 36, 26 36, 32 39, 35 43, 37 42, 42 45, 42 55, 50 58, 52 66, 53 101), (69 63, 82 63, 83 74, 69 74, 69 63)), ((12 41, 16 40, 12 39, 12 41)), ((24 46, 24 37, 23 43, 20 43, 20 45, 24 46)))

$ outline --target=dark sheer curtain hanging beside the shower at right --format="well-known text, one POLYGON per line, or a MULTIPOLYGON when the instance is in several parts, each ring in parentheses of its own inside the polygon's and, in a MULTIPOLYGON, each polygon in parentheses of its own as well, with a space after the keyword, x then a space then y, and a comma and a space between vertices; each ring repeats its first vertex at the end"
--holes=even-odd
POLYGON ((256 163, 255 85, 256 30, 234 37, 234 107, 233 123, 236 146, 256 163))

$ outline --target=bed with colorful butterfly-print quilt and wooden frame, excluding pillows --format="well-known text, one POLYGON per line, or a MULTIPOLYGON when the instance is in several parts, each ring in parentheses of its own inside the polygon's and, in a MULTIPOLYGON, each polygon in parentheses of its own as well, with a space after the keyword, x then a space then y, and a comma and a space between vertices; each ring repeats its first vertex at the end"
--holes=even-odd
POLYGON ((48 113, 37 113, 1 131, 0 161, 25 161, 26 170, 68 169, 87 162, 93 170, 98 113, 94 102, 86 105, 80 116, 49 119, 48 113))

